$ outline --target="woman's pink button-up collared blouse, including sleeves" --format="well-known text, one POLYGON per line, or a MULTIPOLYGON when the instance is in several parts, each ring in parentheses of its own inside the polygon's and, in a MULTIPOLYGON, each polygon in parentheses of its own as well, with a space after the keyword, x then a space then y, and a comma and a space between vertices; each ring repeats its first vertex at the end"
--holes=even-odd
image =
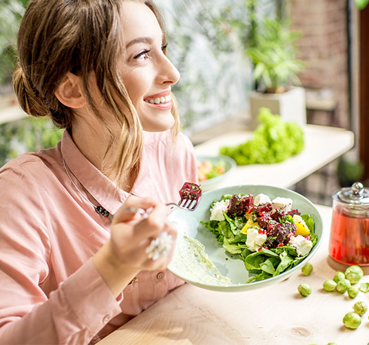
MULTIPOLYGON (((142 271, 118 299, 92 255, 109 238, 110 213, 129 196, 78 150, 65 131, 52 149, 23 154, 0 169, 0 343, 88 344, 114 331, 183 284, 167 270, 142 271), (88 192, 86 192, 88 191, 88 192)), ((193 146, 179 134, 144 133, 132 194, 179 200, 196 182, 193 146)))

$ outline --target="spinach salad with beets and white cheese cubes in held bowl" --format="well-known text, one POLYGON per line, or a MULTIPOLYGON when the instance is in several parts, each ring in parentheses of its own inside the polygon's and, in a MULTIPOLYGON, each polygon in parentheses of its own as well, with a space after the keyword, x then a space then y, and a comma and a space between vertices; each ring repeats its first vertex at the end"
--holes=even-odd
POLYGON ((209 221, 201 224, 255 273, 247 283, 264 280, 302 262, 317 243, 312 216, 292 205, 290 198, 224 194, 211 203, 209 221))

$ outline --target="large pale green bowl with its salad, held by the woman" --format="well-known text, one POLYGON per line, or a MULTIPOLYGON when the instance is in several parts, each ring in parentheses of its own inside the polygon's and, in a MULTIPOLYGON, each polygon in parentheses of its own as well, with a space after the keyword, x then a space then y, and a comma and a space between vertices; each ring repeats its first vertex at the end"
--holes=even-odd
POLYGON ((169 220, 178 229, 169 270, 215 291, 280 282, 313 257, 323 238, 313 202, 268 185, 207 191, 195 211, 173 211, 169 220))

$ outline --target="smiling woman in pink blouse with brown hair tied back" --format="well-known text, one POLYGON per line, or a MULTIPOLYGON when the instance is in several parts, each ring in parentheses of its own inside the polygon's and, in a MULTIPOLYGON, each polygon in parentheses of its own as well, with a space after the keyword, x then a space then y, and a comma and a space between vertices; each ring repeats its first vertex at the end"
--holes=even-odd
POLYGON ((166 48, 151 0, 30 1, 14 88, 66 130, 0 171, 1 344, 95 343, 183 283, 146 252, 197 180, 166 48))

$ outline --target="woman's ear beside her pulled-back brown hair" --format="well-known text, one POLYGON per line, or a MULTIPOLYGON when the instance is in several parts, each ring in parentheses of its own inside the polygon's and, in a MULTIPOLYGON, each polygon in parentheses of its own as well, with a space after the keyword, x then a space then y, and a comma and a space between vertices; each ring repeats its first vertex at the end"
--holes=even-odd
POLYGON ((70 108, 81 108, 86 104, 85 92, 83 92, 82 80, 71 72, 65 74, 63 81, 56 88, 55 96, 59 102, 70 108))

